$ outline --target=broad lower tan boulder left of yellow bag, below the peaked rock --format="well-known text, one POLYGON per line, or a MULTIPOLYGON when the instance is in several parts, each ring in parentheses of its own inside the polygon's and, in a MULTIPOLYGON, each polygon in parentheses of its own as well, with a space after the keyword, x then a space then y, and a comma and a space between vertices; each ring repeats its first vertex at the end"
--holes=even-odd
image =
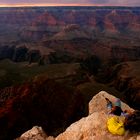
POLYGON ((94 112, 72 124, 56 140, 123 140, 122 136, 110 134, 106 128, 107 114, 94 112))

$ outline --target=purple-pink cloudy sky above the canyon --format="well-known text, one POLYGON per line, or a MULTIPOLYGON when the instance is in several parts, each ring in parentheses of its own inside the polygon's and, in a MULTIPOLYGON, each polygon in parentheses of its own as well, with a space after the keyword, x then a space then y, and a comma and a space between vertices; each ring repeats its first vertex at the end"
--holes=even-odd
POLYGON ((0 0, 0 6, 14 5, 76 5, 76 6, 140 6, 140 0, 0 0))

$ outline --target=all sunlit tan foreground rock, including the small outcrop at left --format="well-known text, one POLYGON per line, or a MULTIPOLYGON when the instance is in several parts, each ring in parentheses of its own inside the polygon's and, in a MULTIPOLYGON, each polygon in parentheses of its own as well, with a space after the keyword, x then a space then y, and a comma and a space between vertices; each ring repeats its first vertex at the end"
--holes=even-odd
MULTIPOLYGON (((126 132, 124 136, 112 135, 106 127, 107 109, 105 97, 111 101, 115 97, 105 91, 99 92, 89 102, 89 115, 70 125, 65 132, 56 138, 47 136, 42 128, 36 126, 25 132, 16 140, 140 140, 140 134, 126 132)), ((128 105, 122 102, 122 109, 133 111, 128 105)))

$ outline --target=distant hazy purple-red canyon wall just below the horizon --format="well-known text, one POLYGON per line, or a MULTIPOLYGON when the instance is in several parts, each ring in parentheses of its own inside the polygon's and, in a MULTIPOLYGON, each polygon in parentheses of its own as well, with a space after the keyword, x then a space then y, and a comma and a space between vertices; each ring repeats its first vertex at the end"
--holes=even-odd
MULTIPOLYGON (((128 37, 129 32, 137 38, 135 33, 140 32, 139 19, 138 8, 3 8, 0 29, 2 28, 2 36, 8 38, 8 41, 40 41, 44 36, 49 38, 61 32, 63 27, 70 24, 85 27, 88 31, 96 32, 98 36, 101 33, 108 35, 109 31, 111 35, 124 33, 123 36, 128 37)), ((4 37, 0 37, 0 40, 7 41, 4 37)))

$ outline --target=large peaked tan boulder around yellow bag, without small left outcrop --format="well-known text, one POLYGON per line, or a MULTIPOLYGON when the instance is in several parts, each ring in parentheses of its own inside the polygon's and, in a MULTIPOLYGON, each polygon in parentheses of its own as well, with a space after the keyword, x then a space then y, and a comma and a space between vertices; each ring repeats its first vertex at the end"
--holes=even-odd
MULTIPOLYGON (((124 140, 130 136, 117 136, 109 133, 106 127, 108 118, 106 109, 106 98, 112 102, 116 97, 101 91, 92 98, 89 103, 89 116, 82 118, 72 124, 67 130, 60 134, 56 140, 124 140)), ((128 105, 122 102, 122 108, 133 111, 128 105)), ((132 136, 133 137, 133 136, 132 136)), ((132 138, 131 137, 131 138, 132 138)))

